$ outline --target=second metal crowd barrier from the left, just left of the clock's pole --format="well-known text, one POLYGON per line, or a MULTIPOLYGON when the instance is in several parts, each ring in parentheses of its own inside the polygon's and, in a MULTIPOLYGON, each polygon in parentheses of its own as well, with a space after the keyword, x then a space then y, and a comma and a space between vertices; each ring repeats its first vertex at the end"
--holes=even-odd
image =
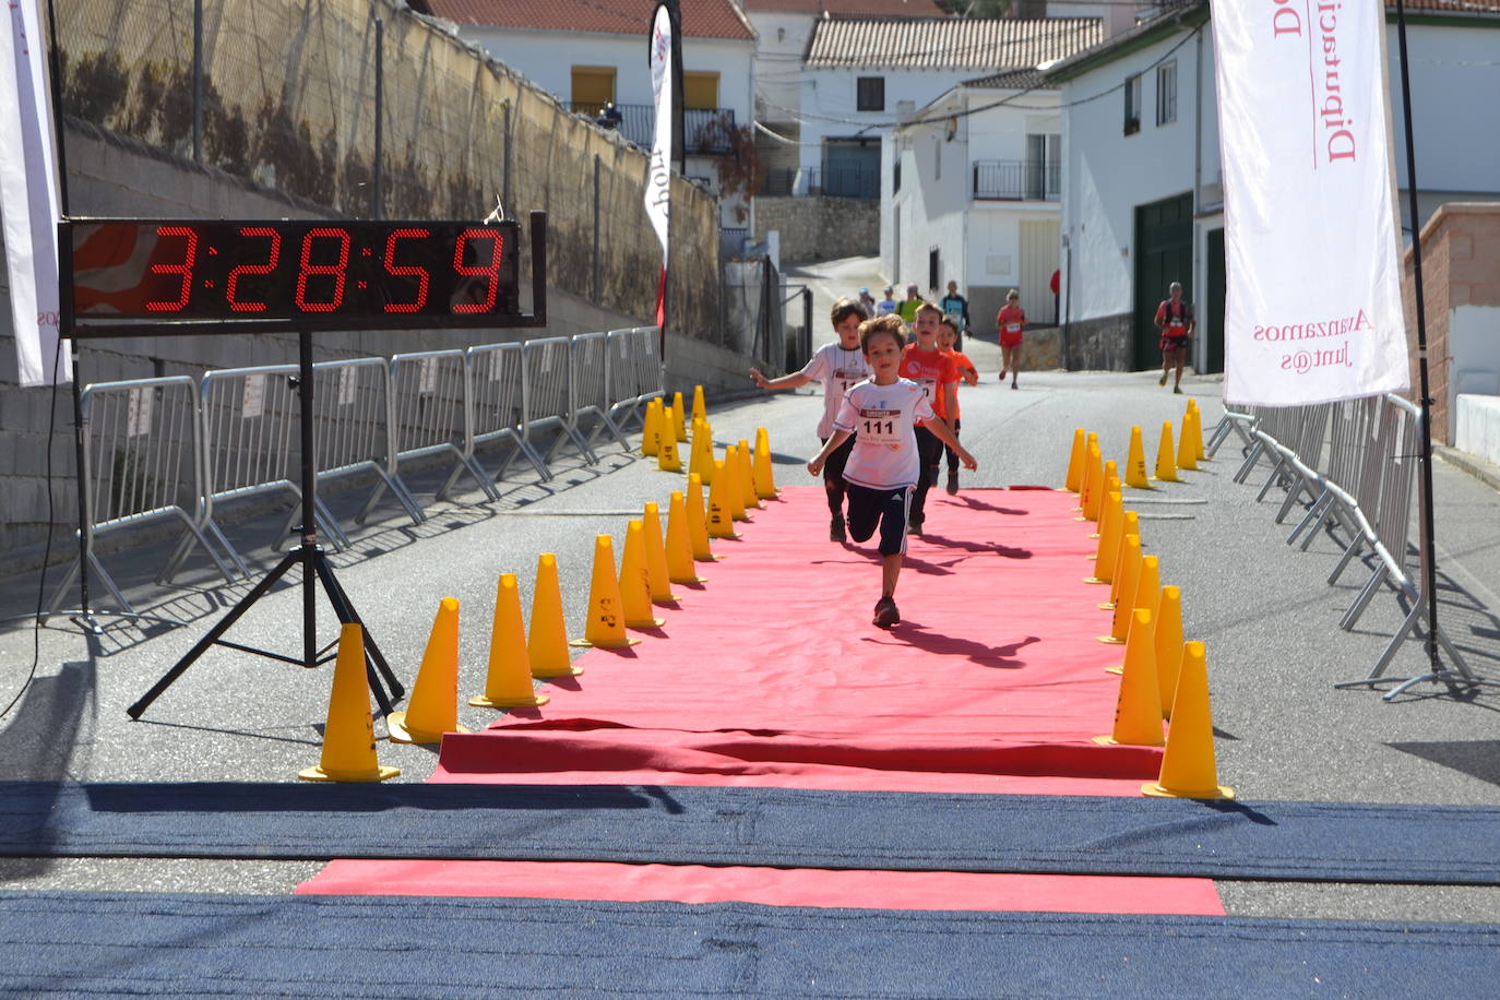
MULTIPOLYGON (((267 364, 208 372, 200 382, 204 496, 198 526, 224 546, 246 579, 250 571, 213 513, 230 501, 279 492, 291 493, 292 510, 302 510, 302 487, 296 480, 302 450, 296 375, 296 364, 267 364)), ((336 547, 348 547, 348 535, 322 501, 314 498, 314 504, 320 532, 336 547)), ((284 525, 272 546, 279 546, 285 537, 284 525)))

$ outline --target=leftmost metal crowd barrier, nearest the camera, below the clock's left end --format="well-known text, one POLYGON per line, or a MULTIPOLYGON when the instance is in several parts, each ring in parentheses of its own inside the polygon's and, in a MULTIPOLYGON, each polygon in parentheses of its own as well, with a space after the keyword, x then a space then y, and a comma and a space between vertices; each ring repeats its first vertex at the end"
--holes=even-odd
POLYGON ((46 606, 52 615, 78 573, 90 568, 126 613, 129 601, 105 571, 93 543, 99 535, 162 517, 183 523, 183 537, 168 558, 158 583, 170 583, 198 543, 224 574, 234 574, 204 537, 194 513, 202 492, 202 448, 196 385, 186 375, 99 382, 82 391, 84 466, 78 471, 87 516, 81 526, 82 558, 74 559, 46 606), (194 511, 194 513, 189 513, 194 511))

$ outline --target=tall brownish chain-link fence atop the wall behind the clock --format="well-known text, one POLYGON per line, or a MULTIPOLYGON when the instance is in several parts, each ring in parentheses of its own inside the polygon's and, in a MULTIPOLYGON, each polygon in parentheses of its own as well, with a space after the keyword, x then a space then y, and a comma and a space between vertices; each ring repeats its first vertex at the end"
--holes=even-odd
MULTIPOLYGON (((543 208, 552 285, 654 315, 639 150, 404 4, 195 6, 57 4, 63 114, 352 217, 476 219, 501 196, 525 226, 543 208)), ((717 204, 681 178, 672 199, 669 315, 723 342, 717 204)))

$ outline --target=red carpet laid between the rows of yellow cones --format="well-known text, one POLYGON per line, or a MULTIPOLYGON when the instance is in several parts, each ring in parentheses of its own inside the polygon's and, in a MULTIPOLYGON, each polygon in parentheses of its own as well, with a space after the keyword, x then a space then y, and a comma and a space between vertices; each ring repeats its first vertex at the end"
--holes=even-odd
MULTIPOLYGON (((873 544, 826 541, 819 487, 716 541, 705 585, 674 589, 639 646, 590 651, 552 702, 482 733, 448 733, 434 781, 1140 795, 1160 750, 1100 747, 1120 648, 1096 607, 1092 525, 1074 496, 928 496, 897 603, 873 544)), ((488 621, 484 609, 471 612, 488 621)), ((340 861, 302 892, 758 901, 878 909, 1222 913, 1212 882, 692 865, 340 861)))

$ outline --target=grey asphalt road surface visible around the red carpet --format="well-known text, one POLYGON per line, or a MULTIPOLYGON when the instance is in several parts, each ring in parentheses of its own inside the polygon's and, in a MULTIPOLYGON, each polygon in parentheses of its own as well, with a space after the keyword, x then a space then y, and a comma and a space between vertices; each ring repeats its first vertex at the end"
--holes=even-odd
MULTIPOLYGON (((880 283, 868 261, 798 274, 814 289, 819 322, 836 295, 880 283)), ((962 393, 963 441, 980 462, 980 471, 964 477, 966 487, 1060 486, 1074 427, 1098 432, 1106 457, 1124 462, 1130 427, 1140 424, 1154 453, 1161 421, 1176 421, 1185 402, 1150 373, 1023 372, 1012 391, 996 379, 993 343, 970 339, 968 352, 984 381, 962 393)), ((1184 385, 1212 427, 1221 411, 1220 381, 1190 376, 1184 385)), ((748 378, 746 396, 710 399, 720 444, 768 429, 782 484, 816 483, 802 463, 818 447, 819 408, 812 388, 760 394, 748 378)), ((1402 610, 1384 591, 1354 631, 1341 631, 1338 619, 1366 570, 1353 567, 1329 586, 1324 577, 1338 556, 1334 541, 1320 537, 1308 552, 1288 547, 1290 525, 1275 525, 1275 505, 1254 499, 1264 471, 1252 477, 1254 486, 1240 486, 1232 481, 1236 465, 1238 448, 1226 447, 1202 471, 1185 474, 1180 486, 1134 498, 1148 549, 1161 556, 1162 582, 1184 589, 1185 633, 1208 645, 1221 783, 1244 799, 1500 804, 1500 687, 1455 696, 1422 684, 1395 702, 1368 688, 1335 688, 1370 672, 1402 610)), ((405 681, 416 675, 440 598, 456 597, 470 609, 459 690, 482 690, 488 622, 476 625, 474 618, 488 615, 496 574, 506 571, 518 574, 530 606, 542 552, 558 556, 570 633, 580 631, 594 535, 612 534, 618 550, 627 517, 639 516, 646 501, 664 508, 678 483, 658 472, 654 459, 620 447, 604 447, 597 466, 564 450, 556 480, 546 484, 519 465, 512 475, 502 499, 492 504, 482 504, 477 490, 460 493, 459 502, 430 502, 440 475, 424 477, 418 489, 429 492, 426 523, 412 525, 382 504, 356 532, 352 550, 333 556, 342 585, 405 681)), ((1500 495, 1442 462, 1434 486, 1443 628, 1470 670, 1500 678, 1500 495)), ((352 513, 358 499, 340 495, 333 504, 352 513)), ((261 544, 273 526, 274 519, 262 517, 231 532, 254 550, 261 570, 273 562, 261 544)), ((39 631, 24 622, 0 625, 0 706, 22 691, 33 643, 39 652, 34 679, 0 718, 6 778, 292 781, 298 769, 316 763, 328 691, 324 670, 212 649, 141 721, 128 718, 126 706, 248 591, 243 583, 224 586, 201 559, 190 564, 183 585, 158 586, 152 576, 165 555, 158 544, 105 559, 140 607, 184 627, 142 631, 106 619, 104 636, 87 637, 60 619, 39 631)), ((26 615, 36 594, 36 576, 0 580, 0 616, 26 615)), ((232 637, 296 655, 298 624, 300 594, 288 586, 256 604, 232 637)), ((332 639, 333 627, 321 604, 320 636, 332 639)), ((1388 675, 1410 676, 1425 667, 1422 646, 1407 643, 1388 675)), ((478 729, 490 718, 460 699, 460 724, 478 729)), ((382 742, 380 757, 402 769, 400 781, 423 781, 435 753, 382 742)), ((1492 853, 1494 846, 1474 849, 1492 853)), ((315 868, 12 859, 0 864, 0 888, 290 892, 315 868)), ((1500 919, 1500 891, 1491 889, 1221 883, 1221 894, 1232 915, 1500 919)))

